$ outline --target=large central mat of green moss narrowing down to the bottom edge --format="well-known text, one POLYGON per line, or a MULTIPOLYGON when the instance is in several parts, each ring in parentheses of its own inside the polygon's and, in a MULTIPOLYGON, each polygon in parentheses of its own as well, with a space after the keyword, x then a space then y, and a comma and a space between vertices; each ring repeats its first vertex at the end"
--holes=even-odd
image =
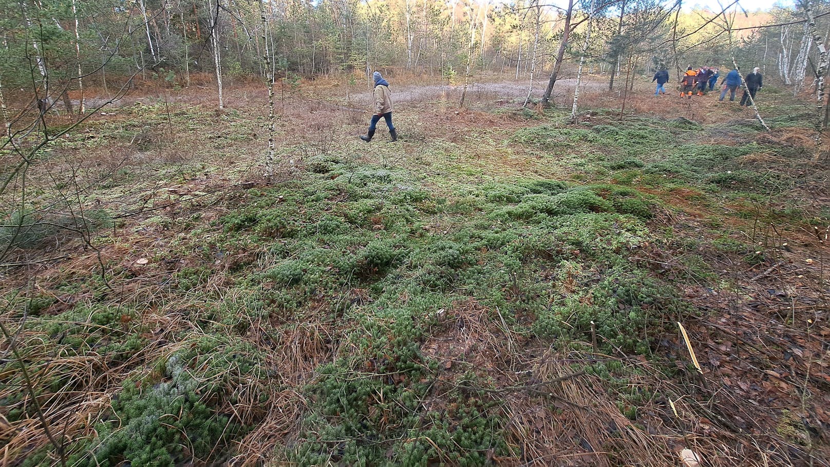
MULTIPOLYGON (((441 363, 421 354, 426 329, 464 297, 552 342, 586 339, 598 322, 607 351, 647 352, 676 306, 671 286, 627 260, 650 238, 654 205, 637 190, 514 179, 446 199, 404 170, 336 158, 312 170, 302 183, 251 190, 220 221, 265 248, 260 272, 237 279, 256 289, 256 313, 352 323, 349 351, 305 390, 302 442, 288 453, 300 465, 481 465, 488 450, 510 454, 503 401, 456 388, 444 395, 456 411, 422 403, 441 363), (354 289, 369 301, 348 297, 354 289)), ((469 377, 486 379, 475 370, 469 377)))

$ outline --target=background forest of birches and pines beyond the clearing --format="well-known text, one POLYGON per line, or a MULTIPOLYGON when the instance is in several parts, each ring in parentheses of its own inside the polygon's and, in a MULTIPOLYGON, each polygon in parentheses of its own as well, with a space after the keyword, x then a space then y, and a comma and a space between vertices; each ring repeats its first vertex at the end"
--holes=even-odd
POLYGON ((686 65, 730 67, 733 58, 796 92, 827 72, 822 2, 770 12, 739 2, 713 10, 657 0, 561 3, 7 2, 3 119, 11 124, 11 109, 27 99, 52 105, 69 94, 63 103, 71 106, 84 84, 110 95, 136 77, 180 89, 212 74, 221 107, 223 80, 271 76, 296 86, 345 76, 370 86, 374 70, 451 84, 515 75, 542 91, 529 89, 531 98, 547 101, 562 66, 573 76, 579 57, 588 73, 609 77, 609 90, 618 76, 663 66, 680 76, 686 65))

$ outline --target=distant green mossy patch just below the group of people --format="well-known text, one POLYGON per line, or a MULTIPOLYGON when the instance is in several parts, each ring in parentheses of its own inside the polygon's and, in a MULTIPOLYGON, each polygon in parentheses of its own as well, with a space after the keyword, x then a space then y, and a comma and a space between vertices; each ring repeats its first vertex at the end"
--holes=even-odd
MULTIPOLYGON (((601 113, 601 112, 600 112, 601 113)), ((784 109, 770 118, 776 128, 801 128, 803 111, 784 109), (796 112, 793 114, 792 112, 796 112)), ((597 120, 599 121, 599 120, 597 120)), ((755 142, 764 127, 733 120, 704 127, 678 117, 630 117, 624 122, 583 121, 578 126, 544 124, 516 130, 511 141, 557 164, 579 169, 574 178, 672 189, 694 186, 715 198, 723 194, 785 194, 803 184, 798 173, 751 165, 745 157, 805 158, 796 146, 755 142), (712 143, 712 138, 728 140, 712 143), (749 165, 748 165, 749 164, 749 165)))

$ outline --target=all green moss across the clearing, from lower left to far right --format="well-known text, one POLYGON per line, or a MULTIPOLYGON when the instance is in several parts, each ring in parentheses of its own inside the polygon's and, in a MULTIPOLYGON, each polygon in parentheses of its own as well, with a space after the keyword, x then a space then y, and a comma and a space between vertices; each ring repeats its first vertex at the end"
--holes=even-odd
MULTIPOLYGON (((130 121, 148 112, 161 128, 159 111, 141 106, 130 121)), ((176 122, 188 119, 174 112, 176 122)), ((753 141, 752 125, 735 125, 730 131, 743 139, 723 145, 690 120, 638 117, 623 125, 596 115, 596 123, 566 126, 557 123, 565 114, 533 113, 524 118, 535 126, 475 135, 493 146, 504 136, 498 150, 507 155, 519 146, 542 164, 573 164, 570 181, 490 175, 456 143, 418 153, 421 162, 426 153, 442 161, 430 166, 435 176, 388 160, 357 163, 344 145, 307 158, 305 172, 288 181, 227 194, 212 215, 159 211, 133 226, 137 235, 168 235, 142 253, 148 261, 140 268, 125 266, 134 263, 129 258, 111 271, 150 283, 149 297, 75 271, 54 279, 49 293, 16 298, 18 314, 27 315, 27 365, 44 369, 62 359, 43 370, 43 400, 100 390, 85 386, 73 361, 90 359, 118 375, 106 392, 111 401, 89 415, 67 450, 70 464, 232 463, 242 438, 261 429, 277 390, 302 401, 274 454, 296 465, 486 465, 520 457, 507 441, 510 406, 497 391, 505 383, 488 367, 500 363, 482 365, 472 347, 436 354, 435 342, 475 341, 463 334, 472 332, 502 339, 508 330, 564 351, 595 335, 601 353, 652 358, 675 332, 669 323, 688 311, 679 288, 715 278, 696 254, 699 238, 655 229, 671 208, 659 193, 690 188, 696 202, 728 199, 750 212, 761 191, 791 185, 741 164, 774 150, 753 141), (648 268, 664 263, 648 261, 662 247, 690 253, 679 260, 682 274, 648 268), (481 316, 464 316, 465 307, 481 316), (313 345, 299 345, 309 343, 303 336, 313 345), (288 374, 303 366, 297 361, 314 368, 288 374)), ((193 120, 203 125, 208 116, 193 120)), ((144 130, 119 128, 124 138, 144 130)), ((83 140, 73 144, 80 149, 83 140)), ((53 236, 32 232, 16 241, 53 236)), ((735 239, 711 246, 748 265, 768 260, 735 239)), ((17 366, 2 361, 0 374, 17 366)), ((607 381, 631 420, 652 397, 632 384, 636 370, 618 362, 574 371, 607 381)), ((16 378, 3 382, 22 385, 16 378)), ((34 419, 22 401, 20 393, 4 396, 2 415, 34 419)), ((54 455, 38 450, 25 465, 47 465, 54 455)))

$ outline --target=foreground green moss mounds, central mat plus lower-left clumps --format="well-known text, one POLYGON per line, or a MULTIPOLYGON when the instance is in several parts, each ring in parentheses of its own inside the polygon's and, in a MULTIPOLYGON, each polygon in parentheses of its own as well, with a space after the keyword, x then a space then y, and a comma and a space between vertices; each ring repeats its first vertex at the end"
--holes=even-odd
MULTIPOLYGON (((95 435, 74 445, 73 465, 229 459, 257 420, 232 410, 238 388, 259 401, 272 374, 245 341, 254 322, 275 345, 297 323, 338 330, 339 353, 297 388, 307 410, 281 450, 299 465, 483 465, 488 453, 517 455, 505 442, 505 400, 469 363, 436 386, 445 362, 422 346, 439 310, 473 299, 498 310, 503 326, 563 346, 590 339, 594 322, 602 351, 648 355, 663 314, 678 306, 671 284, 629 259, 652 241, 646 223, 658 209, 636 189, 494 179, 439 196, 404 169, 334 155, 308 168, 248 189, 152 258, 177 258, 159 287, 182 297, 178 316, 202 333, 165 337, 183 342, 175 351, 154 352, 160 331, 134 324, 136 307, 112 306, 106 293, 61 313, 49 299, 33 302, 27 326, 44 342, 132 369, 93 420, 95 435)), ((56 376, 48 391, 73 377, 56 376)))

